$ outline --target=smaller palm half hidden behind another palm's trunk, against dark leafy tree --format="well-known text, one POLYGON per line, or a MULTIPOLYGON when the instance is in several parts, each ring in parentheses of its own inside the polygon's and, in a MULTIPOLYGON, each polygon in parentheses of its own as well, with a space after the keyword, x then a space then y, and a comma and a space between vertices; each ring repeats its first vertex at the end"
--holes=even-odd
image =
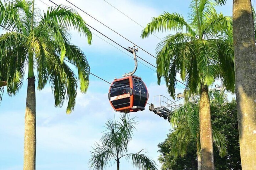
MULTIPOLYGON (((209 91, 210 102, 223 104, 226 94, 219 91, 209 91)), ((195 103, 187 102, 170 115, 169 118, 174 130, 170 134, 171 150, 175 155, 183 157, 187 154, 189 139, 193 138, 197 144, 197 166, 201 170, 201 146, 200 146, 200 129, 199 129, 199 106, 195 103)), ((223 131, 217 130, 212 126, 213 143, 219 149, 219 155, 224 157, 227 153, 227 137, 223 131)))

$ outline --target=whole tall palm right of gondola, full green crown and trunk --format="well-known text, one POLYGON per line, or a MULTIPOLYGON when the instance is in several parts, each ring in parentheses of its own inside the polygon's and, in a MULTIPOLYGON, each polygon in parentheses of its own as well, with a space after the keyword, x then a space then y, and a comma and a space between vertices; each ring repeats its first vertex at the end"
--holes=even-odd
POLYGON ((168 13, 152 19, 142 38, 153 32, 176 31, 160 42, 157 51, 157 77, 164 77, 168 92, 175 97, 176 71, 186 82, 190 95, 200 91, 200 143, 202 168, 214 169, 208 86, 222 80, 234 92, 232 18, 217 14, 210 0, 193 0, 188 22, 180 14, 168 13))

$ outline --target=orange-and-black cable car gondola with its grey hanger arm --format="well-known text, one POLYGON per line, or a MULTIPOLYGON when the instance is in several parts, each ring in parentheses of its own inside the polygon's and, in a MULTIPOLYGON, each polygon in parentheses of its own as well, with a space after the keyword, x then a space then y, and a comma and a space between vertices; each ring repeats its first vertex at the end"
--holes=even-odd
POLYGON ((135 68, 132 72, 123 75, 121 79, 115 79, 109 88, 108 99, 115 111, 129 113, 144 110, 149 98, 145 83, 138 76, 133 75, 137 70, 136 51, 129 48, 134 54, 135 68))

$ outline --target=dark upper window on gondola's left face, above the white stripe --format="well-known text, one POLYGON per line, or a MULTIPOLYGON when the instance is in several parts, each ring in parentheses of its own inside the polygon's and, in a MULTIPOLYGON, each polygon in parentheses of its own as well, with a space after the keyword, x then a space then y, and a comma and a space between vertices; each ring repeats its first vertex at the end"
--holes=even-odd
POLYGON ((110 97, 127 94, 130 91, 129 79, 114 82, 110 89, 110 97))

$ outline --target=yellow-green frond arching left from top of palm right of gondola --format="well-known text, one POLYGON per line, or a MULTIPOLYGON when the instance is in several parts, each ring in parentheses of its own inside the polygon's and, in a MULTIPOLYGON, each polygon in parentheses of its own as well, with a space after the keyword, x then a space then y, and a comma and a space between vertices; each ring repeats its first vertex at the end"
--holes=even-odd
POLYGON ((146 38, 154 32, 163 31, 177 31, 182 32, 185 27, 187 33, 195 35, 195 32, 190 28, 186 20, 177 13, 164 12, 159 17, 153 17, 152 21, 147 24, 146 28, 143 29, 141 37, 146 38))

